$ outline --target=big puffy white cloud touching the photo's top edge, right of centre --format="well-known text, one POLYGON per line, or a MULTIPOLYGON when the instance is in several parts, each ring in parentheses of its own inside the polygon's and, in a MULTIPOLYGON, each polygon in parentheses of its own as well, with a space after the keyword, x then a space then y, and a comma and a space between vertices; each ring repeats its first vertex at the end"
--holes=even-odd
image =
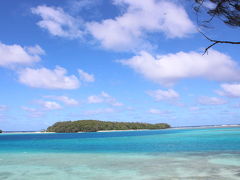
POLYGON ((169 38, 181 38, 195 32, 186 11, 166 0, 115 0, 117 6, 127 6, 126 12, 114 19, 87 23, 88 31, 102 47, 132 50, 141 46, 148 33, 163 32, 169 38))

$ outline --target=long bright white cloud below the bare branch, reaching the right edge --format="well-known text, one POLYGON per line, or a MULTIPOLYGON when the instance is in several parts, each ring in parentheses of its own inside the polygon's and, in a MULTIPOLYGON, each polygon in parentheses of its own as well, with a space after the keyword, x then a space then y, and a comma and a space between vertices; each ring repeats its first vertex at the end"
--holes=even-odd
POLYGON ((223 82, 240 81, 239 65, 231 57, 213 49, 204 56, 197 52, 178 52, 154 57, 142 51, 119 62, 165 86, 194 77, 223 82))

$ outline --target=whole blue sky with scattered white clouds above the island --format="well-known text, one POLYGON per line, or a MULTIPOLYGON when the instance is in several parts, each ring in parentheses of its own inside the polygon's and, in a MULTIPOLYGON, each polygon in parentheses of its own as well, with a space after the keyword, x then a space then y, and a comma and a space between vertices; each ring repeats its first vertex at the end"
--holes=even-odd
MULTIPOLYGON (((210 3, 204 7, 212 7, 210 3)), ((240 123, 239 28, 183 0, 0 1, 0 129, 240 123), (238 38, 238 39, 237 39, 238 38)))

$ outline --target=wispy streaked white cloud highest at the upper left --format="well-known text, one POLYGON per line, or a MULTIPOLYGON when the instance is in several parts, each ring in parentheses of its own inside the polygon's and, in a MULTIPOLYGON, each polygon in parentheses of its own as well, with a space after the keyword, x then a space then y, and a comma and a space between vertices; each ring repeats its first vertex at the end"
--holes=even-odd
POLYGON ((41 16, 42 20, 37 23, 50 34, 69 39, 75 39, 82 36, 83 32, 79 29, 80 22, 62 8, 37 6, 32 8, 32 13, 41 16))

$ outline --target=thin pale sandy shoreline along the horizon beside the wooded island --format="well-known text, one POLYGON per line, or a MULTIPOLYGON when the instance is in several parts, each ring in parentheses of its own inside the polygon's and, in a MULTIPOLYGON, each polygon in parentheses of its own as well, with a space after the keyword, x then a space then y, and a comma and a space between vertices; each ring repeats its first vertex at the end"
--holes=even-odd
MULTIPOLYGON (((228 128, 228 127, 240 127, 240 124, 223 124, 223 125, 206 125, 206 126, 182 126, 182 127, 171 127, 171 129, 208 129, 208 128, 228 128)), ((166 129, 128 129, 128 130, 101 130, 96 132, 124 132, 124 131, 148 131, 148 130, 166 130, 166 129)), ((3 131, 1 134, 52 134, 55 132, 42 132, 42 131, 3 131)), ((77 132, 77 133, 88 133, 88 132, 77 132)))

